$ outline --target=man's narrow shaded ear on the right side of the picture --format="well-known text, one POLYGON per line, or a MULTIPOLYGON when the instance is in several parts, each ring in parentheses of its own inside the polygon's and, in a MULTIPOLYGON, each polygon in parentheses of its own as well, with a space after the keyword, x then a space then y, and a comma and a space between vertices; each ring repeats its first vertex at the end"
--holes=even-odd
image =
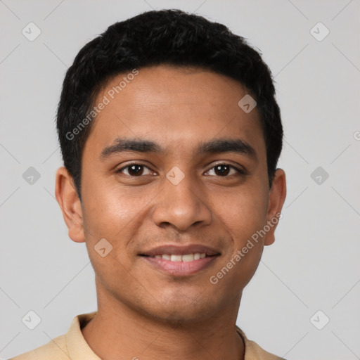
POLYGON ((286 178, 283 169, 276 169, 273 184, 269 192, 266 224, 270 230, 266 233, 264 245, 271 245, 275 241, 275 229, 282 218, 281 209, 286 198, 286 178))

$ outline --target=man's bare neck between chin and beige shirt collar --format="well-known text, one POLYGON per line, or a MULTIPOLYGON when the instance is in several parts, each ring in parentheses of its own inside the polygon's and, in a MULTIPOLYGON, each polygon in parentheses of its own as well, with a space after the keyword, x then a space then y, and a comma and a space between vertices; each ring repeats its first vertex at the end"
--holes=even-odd
POLYGON ((236 333, 240 298, 211 319, 196 323, 169 323, 112 297, 104 300, 98 296, 97 314, 82 328, 89 347, 101 359, 244 359, 243 340, 236 333))

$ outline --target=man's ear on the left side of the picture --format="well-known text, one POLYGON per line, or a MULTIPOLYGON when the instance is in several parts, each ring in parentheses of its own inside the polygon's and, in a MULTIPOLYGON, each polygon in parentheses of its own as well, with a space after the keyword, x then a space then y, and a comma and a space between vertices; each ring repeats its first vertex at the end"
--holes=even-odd
POLYGON ((84 243, 82 204, 72 176, 65 167, 60 167, 56 172, 55 195, 63 212, 66 226, 68 226, 69 237, 76 243, 84 243))

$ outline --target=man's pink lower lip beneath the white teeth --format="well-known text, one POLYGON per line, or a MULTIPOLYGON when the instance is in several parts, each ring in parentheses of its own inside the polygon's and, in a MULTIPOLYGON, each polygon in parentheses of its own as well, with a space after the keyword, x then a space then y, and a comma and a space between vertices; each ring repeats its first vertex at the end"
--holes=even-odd
POLYGON ((172 262, 170 260, 158 259, 155 257, 143 256, 147 262, 165 271, 166 274, 172 276, 188 276, 210 266, 217 256, 204 257, 203 259, 193 260, 191 262, 172 262))

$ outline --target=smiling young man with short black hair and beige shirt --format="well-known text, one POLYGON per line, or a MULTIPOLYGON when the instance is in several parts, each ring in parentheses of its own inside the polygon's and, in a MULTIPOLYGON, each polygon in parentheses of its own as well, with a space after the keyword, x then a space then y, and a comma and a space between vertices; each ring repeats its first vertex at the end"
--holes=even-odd
POLYGON ((269 68, 182 11, 116 23, 68 70, 56 198, 98 310, 25 359, 280 359, 236 327, 285 200, 269 68))

